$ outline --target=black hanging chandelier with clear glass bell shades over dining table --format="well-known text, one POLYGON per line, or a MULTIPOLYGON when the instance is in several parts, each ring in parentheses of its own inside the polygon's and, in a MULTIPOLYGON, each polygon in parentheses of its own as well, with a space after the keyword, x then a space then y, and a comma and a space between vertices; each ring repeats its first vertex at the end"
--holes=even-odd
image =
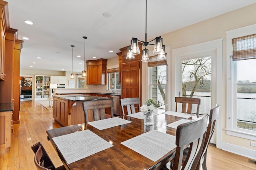
POLYGON ((151 41, 147 41, 147 0, 146 0, 146 33, 145 33, 145 41, 140 41, 137 38, 132 38, 131 40, 131 45, 128 46, 130 47, 130 50, 127 47, 127 55, 126 55, 126 59, 134 59, 135 57, 132 57, 132 55, 138 55, 140 54, 140 49, 139 49, 139 42, 142 43, 141 45, 143 45, 145 47, 145 49, 142 51, 142 59, 141 61, 147 62, 149 61, 149 57, 148 57, 148 49, 146 49, 146 47, 148 47, 148 45, 154 45, 154 50, 153 53, 157 54, 158 60, 166 60, 166 54, 165 54, 165 49, 164 49, 164 45, 163 45, 163 39, 160 37, 156 37, 155 39, 151 40, 151 41), (150 44, 150 42, 154 41, 154 44, 150 44))

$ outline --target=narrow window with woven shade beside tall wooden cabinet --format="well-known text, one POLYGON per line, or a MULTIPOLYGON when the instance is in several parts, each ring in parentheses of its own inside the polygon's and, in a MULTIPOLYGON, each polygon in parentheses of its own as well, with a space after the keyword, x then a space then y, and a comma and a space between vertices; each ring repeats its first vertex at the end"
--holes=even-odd
POLYGON ((166 60, 154 61, 157 56, 150 57, 148 62, 150 72, 150 98, 154 101, 159 101, 164 104, 161 109, 166 109, 166 60))

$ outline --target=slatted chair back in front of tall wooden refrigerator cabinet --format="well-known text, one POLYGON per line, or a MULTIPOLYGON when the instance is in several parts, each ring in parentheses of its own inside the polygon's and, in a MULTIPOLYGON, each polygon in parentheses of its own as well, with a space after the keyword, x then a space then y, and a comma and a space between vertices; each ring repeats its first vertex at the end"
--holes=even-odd
POLYGON ((138 105, 138 110, 140 112, 140 98, 123 98, 123 99, 120 99, 120 105, 122 106, 123 115, 125 115, 124 107, 126 107, 126 111, 127 111, 128 115, 132 114, 132 113, 136 113, 135 105, 138 105))

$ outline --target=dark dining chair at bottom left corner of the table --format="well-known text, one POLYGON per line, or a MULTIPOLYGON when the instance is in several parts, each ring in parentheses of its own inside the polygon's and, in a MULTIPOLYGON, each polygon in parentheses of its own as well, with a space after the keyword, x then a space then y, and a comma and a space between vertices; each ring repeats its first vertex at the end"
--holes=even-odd
POLYGON ((52 160, 44 150, 42 143, 38 142, 31 147, 34 151, 34 162, 37 170, 65 170, 66 168, 62 165, 55 168, 52 160))

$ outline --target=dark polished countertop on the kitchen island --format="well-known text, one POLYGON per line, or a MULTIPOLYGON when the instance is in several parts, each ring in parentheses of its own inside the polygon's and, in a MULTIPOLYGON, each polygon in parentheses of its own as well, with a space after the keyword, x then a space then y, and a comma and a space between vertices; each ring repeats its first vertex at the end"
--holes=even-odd
POLYGON ((58 98, 63 98, 66 100, 71 100, 74 102, 78 101, 91 101, 91 100, 106 100, 110 98, 104 98, 104 97, 99 97, 99 96, 89 96, 89 95, 84 95, 84 94, 67 94, 67 95, 56 95, 55 97, 58 98))

